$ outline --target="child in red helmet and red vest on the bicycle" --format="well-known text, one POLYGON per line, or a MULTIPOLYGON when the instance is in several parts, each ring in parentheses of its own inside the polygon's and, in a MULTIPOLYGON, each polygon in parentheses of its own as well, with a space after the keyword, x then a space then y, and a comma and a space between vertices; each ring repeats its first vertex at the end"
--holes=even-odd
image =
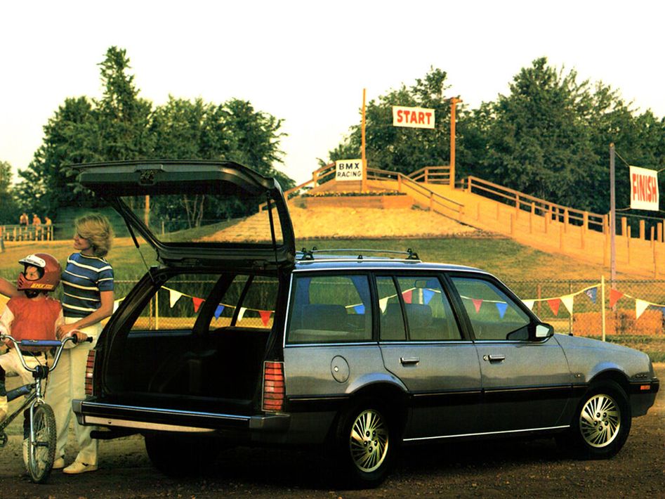
MULTIPOLYGON (((55 339, 55 329, 64 322, 60 302, 48 297, 60 283, 62 268, 58 260, 47 253, 30 254, 19 260, 23 271, 18 275, 16 289, 23 296, 13 295, 0 316, 0 334, 21 339, 55 339)), ((0 355, 0 421, 7 416, 8 402, 5 389, 5 372, 20 375, 23 383, 32 383, 32 372, 25 370, 13 344, 6 341, 10 350, 0 355)), ((34 347, 21 349, 26 365, 46 364, 46 351, 34 347)))

